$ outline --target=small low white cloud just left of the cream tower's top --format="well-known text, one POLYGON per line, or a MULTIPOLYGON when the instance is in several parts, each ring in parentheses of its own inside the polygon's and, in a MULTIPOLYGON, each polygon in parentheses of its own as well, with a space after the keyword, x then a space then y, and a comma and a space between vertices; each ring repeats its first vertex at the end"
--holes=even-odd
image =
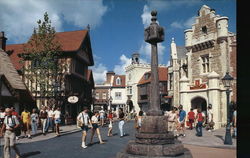
POLYGON ((124 54, 120 56, 119 65, 115 65, 114 72, 119 75, 125 74, 125 67, 131 64, 131 59, 126 57, 124 54))

